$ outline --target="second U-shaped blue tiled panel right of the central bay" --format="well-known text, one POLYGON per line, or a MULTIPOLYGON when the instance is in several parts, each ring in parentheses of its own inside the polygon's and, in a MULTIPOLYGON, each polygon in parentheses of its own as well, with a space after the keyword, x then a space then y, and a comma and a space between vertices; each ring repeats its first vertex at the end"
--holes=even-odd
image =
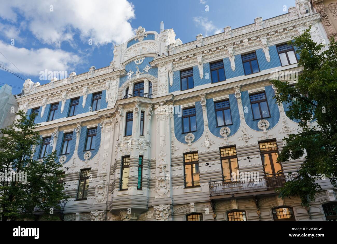
MULTIPOLYGON (((223 126, 216 127, 214 101, 212 98, 207 99, 206 101, 207 101, 206 106, 207 106, 208 128, 214 136, 223 138, 220 135, 220 129, 223 126)), ((234 94, 229 94, 229 105, 231 106, 231 115, 232 115, 233 125, 228 125, 226 127, 231 129, 231 134, 229 134, 229 136, 233 136, 239 130, 239 127, 240 127, 240 114, 239 114, 238 102, 237 102, 237 99, 234 97, 234 94)))

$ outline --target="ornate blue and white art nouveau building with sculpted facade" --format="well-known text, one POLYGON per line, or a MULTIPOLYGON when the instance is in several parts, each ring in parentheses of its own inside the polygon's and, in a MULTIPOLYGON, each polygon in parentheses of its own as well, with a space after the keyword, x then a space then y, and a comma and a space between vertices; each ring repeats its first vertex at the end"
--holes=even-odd
POLYGON ((319 180, 324 191, 307 209, 275 193, 304 157, 276 162, 298 123, 276 104, 269 81, 277 71, 301 72, 286 43, 307 28, 329 43, 306 0, 186 44, 163 25, 160 33, 139 27, 115 46, 108 67, 45 85, 26 80, 18 102, 38 113, 35 157, 57 150, 68 168, 64 220, 333 218, 329 181, 319 180), (231 179, 233 172, 255 178, 231 179))

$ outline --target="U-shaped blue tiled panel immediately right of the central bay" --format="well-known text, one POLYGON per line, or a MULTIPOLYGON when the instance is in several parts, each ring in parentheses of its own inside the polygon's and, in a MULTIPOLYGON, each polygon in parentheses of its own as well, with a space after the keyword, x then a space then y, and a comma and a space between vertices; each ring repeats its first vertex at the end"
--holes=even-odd
MULTIPOLYGON (((200 102, 195 102, 195 114, 197 131, 192 132, 192 134, 194 135, 193 142, 196 142, 204 133, 204 116, 200 102)), ((174 134, 178 141, 187 144, 187 142, 185 141, 185 136, 188 133, 182 134, 182 117, 178 117, 177 113, 174 115, 174 134)))

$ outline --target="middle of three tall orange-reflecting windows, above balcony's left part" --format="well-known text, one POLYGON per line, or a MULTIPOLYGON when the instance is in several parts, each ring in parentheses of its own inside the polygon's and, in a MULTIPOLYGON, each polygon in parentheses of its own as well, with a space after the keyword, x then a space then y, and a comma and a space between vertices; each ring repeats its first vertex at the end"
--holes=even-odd
POLYGON ((239 180, 239 165, 235 146, 220 148, 222 177, 225 181, 230 181, 234 172, 236 177, 234 181, 239 180))

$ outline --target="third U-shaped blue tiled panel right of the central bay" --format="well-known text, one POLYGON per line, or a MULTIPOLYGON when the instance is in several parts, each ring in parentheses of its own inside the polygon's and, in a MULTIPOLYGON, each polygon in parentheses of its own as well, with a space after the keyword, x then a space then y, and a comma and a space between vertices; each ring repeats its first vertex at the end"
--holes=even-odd
MULTIPOLYGON (((267 101, 269 105, 269 111, 271 114, 270 118, 265 118, 265 119, 269 121, 270 125, 269 125, 268 130, 270 130, 277 124, 280 118, 280 111, 278 110, 276 99, 273 98, 275 96, 275 93, 274 93, 272 86, 265 86, 265 91, 266 91, 267 101)), ((250 106, 248 91, 241 92, 241 99, 242 99, 243 110, 245 110, 245 107, 248 108, 248 112, 244 113, 247 126, 249 126, 253 130, 261 131, 257 127, 257 123, 261 119, 253 120, 253 114, 252 114, 252 110, 250 106)))

